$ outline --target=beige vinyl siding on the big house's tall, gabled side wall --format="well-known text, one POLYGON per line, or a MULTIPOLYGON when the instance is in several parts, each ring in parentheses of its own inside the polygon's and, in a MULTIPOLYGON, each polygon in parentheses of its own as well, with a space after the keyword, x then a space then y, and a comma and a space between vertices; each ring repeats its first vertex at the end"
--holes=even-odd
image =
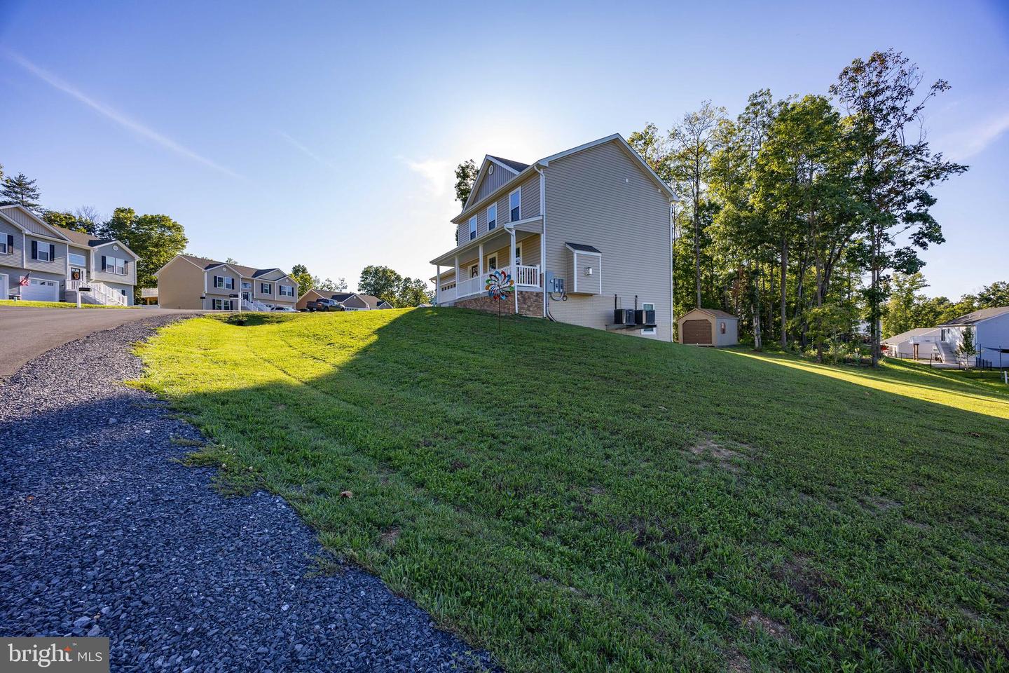
MULTIPOLYGON (((656 334, 645 336, 669 341, 668 197, 615 141, 556 159, 546 169, 546 268, 564 274, 570 289, 565 242, 602 252, 601 294, 550 302, 553 316, 604 328, 612 322, 613 295, 626 309, 634 308, 637 295, 638 308, 645 302, 655 304, 656 334)), ((627 333, 641 336, 640 330, 627 333)))

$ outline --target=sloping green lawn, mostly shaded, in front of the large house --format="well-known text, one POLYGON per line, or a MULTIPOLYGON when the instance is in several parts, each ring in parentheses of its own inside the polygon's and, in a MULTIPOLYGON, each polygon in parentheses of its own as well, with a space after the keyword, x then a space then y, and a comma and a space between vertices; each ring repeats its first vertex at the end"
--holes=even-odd
POLYGON ((139 348, 194 462, 508 670, 1009 667, 990 385, 460 309, 227 320, 139 348))

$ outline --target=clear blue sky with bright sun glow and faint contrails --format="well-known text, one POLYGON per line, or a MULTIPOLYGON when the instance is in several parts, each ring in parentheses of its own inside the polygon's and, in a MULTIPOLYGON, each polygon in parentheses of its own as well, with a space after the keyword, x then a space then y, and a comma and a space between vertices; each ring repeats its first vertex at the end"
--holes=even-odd
POLYGON ((1009 279, 1009 9, 882 4, 0 0, 0 163, 48 208, 165 213, 193 252, 353 289, 366 264, 433 274, 464 158, 825 93, 893 46, 952 85, 926 126, 971 164, 935 190, 928 292, 1009 279))

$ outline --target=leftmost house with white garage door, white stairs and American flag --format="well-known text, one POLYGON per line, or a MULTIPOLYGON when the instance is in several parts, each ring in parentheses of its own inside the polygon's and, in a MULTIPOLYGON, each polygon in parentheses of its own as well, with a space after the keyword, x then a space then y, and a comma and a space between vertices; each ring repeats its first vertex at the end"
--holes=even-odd
POLYGON ((23 206, 0 206, 0 299, 77 302, 80 294, 85 304, 130 306, 136 261, 121 241, 46 224, 23 206))

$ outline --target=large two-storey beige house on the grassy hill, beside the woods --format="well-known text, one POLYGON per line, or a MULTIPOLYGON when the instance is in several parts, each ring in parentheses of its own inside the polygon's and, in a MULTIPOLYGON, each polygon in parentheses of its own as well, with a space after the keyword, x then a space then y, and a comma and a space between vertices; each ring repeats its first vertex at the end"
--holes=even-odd
POLYGON ((436 303, 496 312, 485 284, 500 269, 511 312, 671 341, 675 201, 620 134, 532 164, 488 154, 452 220, 458 244, 431 260, 436 303), (634 308, 654 323, 615 320, 634 308))

